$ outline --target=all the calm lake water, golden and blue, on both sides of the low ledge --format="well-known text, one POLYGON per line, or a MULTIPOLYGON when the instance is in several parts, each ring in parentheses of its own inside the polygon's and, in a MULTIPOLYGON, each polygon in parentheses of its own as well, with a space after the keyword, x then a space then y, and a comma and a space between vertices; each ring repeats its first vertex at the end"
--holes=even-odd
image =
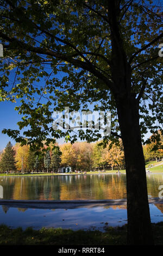
MULTIPOLYGON (((0 177, 3 199, 16 200, 101 200, 125 199, 126 175, 62 175, 0 177)), ((148 196, 158 197, 163 174, 147 174, 148 196)), ((149 204, 151 221, 163 221, 163 204, 149 204)), ((0 224, 10 227, 99 229, 127 223, 126 205, 77 209, 30 209, 1 205, 0 224)))

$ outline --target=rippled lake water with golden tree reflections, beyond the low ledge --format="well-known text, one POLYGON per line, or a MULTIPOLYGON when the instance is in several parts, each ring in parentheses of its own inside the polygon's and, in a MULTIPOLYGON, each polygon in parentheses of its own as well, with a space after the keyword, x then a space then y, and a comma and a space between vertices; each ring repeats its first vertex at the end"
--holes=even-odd
MULTIPOLYGON (((102 200, 126 199, 125 174, 0 177, 3 199, 102 200)), ((163 174, 147 174, 149 197, 158 197, 163 174)), ((1 197, 2 198, 2 197, 1 197)))

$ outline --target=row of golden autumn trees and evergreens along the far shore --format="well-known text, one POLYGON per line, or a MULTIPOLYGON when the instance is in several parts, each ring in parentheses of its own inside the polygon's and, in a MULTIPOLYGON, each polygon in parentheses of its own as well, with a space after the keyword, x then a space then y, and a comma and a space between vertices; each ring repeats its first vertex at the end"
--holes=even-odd
MULTIPOLYGON (((160 143, 162 144, 162 137, 160 143)), ((153 167, 154 172, 162 171, 158 168, 163 159, 163 150, 155 148, 155 142, 143 146, 146 168, 153 167)), ((33 174, 47 173, 58 174, 59 168, 70 166, 70 173, 106 173, 125 171, 124 150, 122 140, 111 143, 104 148, 102 141, 95 143, 76 142, 58 145, 51 144, 50 147, 43 143, 40 151, 32 151, 28 144, 21 146, 11 142, 0 153, 0 174, 33 174)), ((149 170, 149 169, 148 169, 149 170)))

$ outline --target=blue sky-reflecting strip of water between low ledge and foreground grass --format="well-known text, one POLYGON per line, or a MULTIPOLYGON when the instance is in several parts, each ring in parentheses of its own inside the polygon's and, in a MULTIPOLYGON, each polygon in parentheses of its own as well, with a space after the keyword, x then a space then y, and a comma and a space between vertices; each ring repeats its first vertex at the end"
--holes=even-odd
MULTIPOLYGON (((123 207, 123 206, 122 206, 123 207)), ((162 212, 155 205, 150 204, 152 222, 163 221, 162 212)), ((103 227, 116 227, 127 223, 127 210, 117 206, 114 209, 95 207, 95 208, 78 208, 78 209, 20 209, 0 206, 0 224, 6 224, 10 227, 41 227, 54 228, 71 228, 77 229, 95 229, 103 230, 103 227), (6 213, 5 213, 5 212, 6 213)))

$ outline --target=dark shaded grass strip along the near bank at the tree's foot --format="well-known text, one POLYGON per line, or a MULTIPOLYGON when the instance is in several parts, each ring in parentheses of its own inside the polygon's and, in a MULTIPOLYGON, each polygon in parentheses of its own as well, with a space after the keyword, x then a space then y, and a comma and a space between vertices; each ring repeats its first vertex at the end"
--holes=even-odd
MULTIPOLYGON (((163 245, 163 222, 152 224, 156 245, 163 245)), ((0 245, 126 245, 127 225, 108 227, 105 232, 61 228, 11 229, 0 225, 0 245)))

